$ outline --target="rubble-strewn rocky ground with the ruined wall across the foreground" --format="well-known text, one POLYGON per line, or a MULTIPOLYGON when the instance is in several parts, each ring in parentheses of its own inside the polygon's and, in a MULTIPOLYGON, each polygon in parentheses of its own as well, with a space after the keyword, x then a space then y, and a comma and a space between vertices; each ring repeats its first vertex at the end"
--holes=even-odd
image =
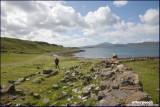
POLYGON ((15 88, 16 85, 27 81, 32 81, 33 85, 42 84, 46 78, 59 73, 59 70, 44 69, 42 73, 37 72, 17 81, 8 80, 12 85, 2 85, 1 105, 34 106, 41 102, 42 105, 49 106, 131 106, 133 101, 152 101, 151 97, 143 92, 139 76, 131 68, 119 64, 117 58, 104 60, 98 64, 82 62, 69 68, 63 67, 62 71, 61 80, 48 86, 48 91, 43 92, 48 95, 56 92, 53 95, 56 97, 54 102, 47 97, 39 101, 41 98, 39 93, 15 88), (86 73, 81 72, 88 66, 89 70, 86 73), (27 96, 33 97, 36 102, 28 102, 27 96), (62 100, 65 100, 64 104, 60 104, 62 100))

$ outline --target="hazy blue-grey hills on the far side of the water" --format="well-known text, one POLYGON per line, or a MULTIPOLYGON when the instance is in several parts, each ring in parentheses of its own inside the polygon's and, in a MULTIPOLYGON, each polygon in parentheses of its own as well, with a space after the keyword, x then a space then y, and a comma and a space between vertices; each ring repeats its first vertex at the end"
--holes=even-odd
POLYGON ((97 45, 83 46, 81 48, 106 48, 106 47, 145 47, 145 46, 159 46, 159 42, 142 42, 142 43, 128 43, 128 44, 112 44, 108 42, 97 45))

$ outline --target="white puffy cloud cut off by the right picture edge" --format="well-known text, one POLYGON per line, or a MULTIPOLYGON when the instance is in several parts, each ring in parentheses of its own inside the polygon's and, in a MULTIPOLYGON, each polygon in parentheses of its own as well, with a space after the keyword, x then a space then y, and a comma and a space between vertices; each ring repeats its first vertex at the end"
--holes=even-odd
POLYGON ((158 9, 149 9, 142 16, 139 15, 142 22, 145 22, 150 25, 159 25, 159 8, 158 9))

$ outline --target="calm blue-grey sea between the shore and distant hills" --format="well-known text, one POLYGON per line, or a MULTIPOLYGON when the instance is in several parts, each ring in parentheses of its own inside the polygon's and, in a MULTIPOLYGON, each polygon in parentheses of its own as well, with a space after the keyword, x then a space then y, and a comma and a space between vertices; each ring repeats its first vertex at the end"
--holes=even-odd
POLYGON ((84 52, 76 53, 75 57, 83 58, 111 58, 117 54, 119 58, 128 57, 159 57, 159 46, 148 47, 106 47, 106 48, 79 48, 84 52))

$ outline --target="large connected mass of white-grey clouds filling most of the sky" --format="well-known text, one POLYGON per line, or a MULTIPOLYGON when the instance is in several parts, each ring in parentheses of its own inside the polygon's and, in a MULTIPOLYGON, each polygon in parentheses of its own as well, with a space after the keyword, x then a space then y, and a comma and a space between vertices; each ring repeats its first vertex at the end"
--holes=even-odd
POLYGON ((137 35, 159 34, 159 9, 149 9, 139 15, 141 23, 120 22, 120 17, 108 6, 81 16, 64 3, 2 1, 1 35, 64 46, 85 46, 105 40, 120 43, 137 35))

